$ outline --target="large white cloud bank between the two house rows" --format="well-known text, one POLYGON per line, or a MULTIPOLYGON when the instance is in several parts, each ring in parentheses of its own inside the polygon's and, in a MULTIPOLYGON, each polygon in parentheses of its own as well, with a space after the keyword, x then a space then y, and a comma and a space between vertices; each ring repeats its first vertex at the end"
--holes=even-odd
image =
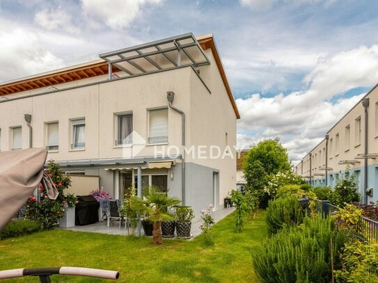
POLYGON ((262 97, 253 94, 236 99, 242 119, 239 131, 259 131, 255 138, 238 135, 239 145, 279 136, 290 159, 299 160, 324 138, 333 125, 365 95, 330 99, 352 88, 373 86, 378 81, 378 46, 359 47, 326 58, 306 76, 308 90, 262 97))

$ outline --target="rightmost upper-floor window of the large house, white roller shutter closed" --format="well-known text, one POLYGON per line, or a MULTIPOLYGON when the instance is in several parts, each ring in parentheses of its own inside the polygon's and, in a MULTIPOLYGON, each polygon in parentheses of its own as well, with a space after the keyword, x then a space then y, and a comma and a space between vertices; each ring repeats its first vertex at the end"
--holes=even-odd
POLYGON ((168 143, 168 108, 148 111, 148 143, 168 143))

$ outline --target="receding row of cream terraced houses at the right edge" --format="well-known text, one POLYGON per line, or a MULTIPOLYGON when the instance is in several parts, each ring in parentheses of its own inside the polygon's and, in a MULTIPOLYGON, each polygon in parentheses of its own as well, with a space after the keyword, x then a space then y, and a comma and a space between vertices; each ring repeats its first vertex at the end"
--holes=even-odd
POLYGON ((378 87, 372 88, 294 167, 312 186, 334 188, 345 170, 354 174, 361 202, 378 200, 378 87))

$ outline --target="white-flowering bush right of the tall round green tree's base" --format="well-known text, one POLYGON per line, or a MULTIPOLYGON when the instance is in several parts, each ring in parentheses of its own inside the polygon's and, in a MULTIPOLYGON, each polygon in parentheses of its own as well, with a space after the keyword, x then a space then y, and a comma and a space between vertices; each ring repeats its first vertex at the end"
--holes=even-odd
POLYGON ((264 191, 271 197, 275 197, 278 188, 285 185, 300 185, 303 183, 303 179, 300 176, 295 175, 292 171, 278 172, 275 175, 269 176, 269 181, 267 186, 265 186, 264 191))

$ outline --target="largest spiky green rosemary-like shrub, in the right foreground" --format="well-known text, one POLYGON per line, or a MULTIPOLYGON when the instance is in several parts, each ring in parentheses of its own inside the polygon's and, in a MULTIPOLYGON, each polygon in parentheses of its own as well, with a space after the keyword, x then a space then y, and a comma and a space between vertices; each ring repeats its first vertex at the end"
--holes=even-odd
POLYGON ((333 218, 304 218, 299 227, 285 227, 253 250, 253 266, 263 282, 331 282, 340 268, 338 251, 345 235, 335 228, 333 218), (332 247, 331 250, 331 242, 332 247))

